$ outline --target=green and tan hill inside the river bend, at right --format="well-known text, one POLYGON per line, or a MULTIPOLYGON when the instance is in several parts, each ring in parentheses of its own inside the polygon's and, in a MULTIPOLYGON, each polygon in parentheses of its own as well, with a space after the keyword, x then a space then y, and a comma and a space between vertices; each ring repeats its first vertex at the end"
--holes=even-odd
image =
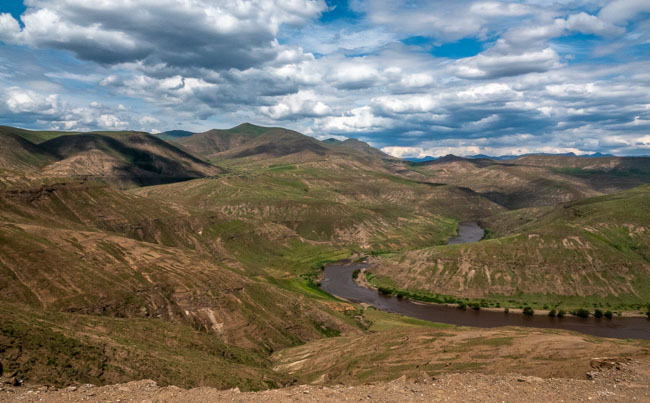
POLYGON ((394 287, 458 297, 645 304, 650 300, 650 186, 485 221, 502 237, 379 259, 394 287), (530 218, 532 217, 532 219, 530 218), (549 294, 546 297, 541 296, 549 294), (579 299, 578 298, 578 299, 579 299))

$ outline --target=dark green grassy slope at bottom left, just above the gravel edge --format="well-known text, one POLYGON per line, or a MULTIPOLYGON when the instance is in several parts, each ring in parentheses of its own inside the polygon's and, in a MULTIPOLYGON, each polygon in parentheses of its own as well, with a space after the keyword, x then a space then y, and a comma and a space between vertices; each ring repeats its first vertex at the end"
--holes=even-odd
POLYGON ((119 319, 0 306, 5 372, 55 386, 153 379, 161 385, 266 389, 287 381, 259 352, 159 319, 119 319))

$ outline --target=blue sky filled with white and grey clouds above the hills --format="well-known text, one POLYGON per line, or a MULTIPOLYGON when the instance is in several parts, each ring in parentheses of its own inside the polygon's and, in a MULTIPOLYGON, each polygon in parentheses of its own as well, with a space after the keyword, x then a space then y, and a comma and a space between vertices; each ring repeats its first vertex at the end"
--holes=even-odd
POLYGON ((0 124, 650 155, 650 1, 0 0, 0 124))

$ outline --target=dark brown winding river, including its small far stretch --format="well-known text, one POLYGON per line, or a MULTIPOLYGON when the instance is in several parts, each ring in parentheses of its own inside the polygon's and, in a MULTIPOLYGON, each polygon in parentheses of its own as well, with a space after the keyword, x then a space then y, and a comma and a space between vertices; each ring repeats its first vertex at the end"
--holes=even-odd
MULTIPOLYGON (((461 223, 459 236, 449 243, 476 242, 483 237, 483 229, 476 223, 461 223), (478 229, 477 229, 478 228, 478 229), (480 233, 480 236, 479 236, 480 233), (458 238, 462 238, 461 241, 458 238)), ((430 322, 448 323, 458 326, 499 327, 522 326, 536 328, 564 329, 600 337, 650 340, 650 320, 645 317, 614 317, 612 319, 594 317, 578 318, 565 316, 551 318, 547 315, 526 316, 522 314, 495 312, 474 309, 461 310, 441 304, 423 303, 394 296, 358 285, 352 278, 356 269, 366 264, 331 264, 325 267, 321 288, 337 297, 353 302, 363 302, 383 311, 423 319, 430 322)))

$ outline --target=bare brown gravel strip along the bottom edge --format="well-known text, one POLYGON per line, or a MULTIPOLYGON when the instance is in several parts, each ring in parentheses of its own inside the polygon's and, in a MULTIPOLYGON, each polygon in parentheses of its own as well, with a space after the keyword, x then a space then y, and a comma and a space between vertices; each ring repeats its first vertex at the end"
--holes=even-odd
MULTIPOLYGON (((271 401, 462 401, 462 402, 650 402, 650 361, 592 360, 584 380, 455 373, 359 386, 302 385, 262 392, 159 387, 142 380, 120 385, 65 389, 0 386, 0 401, 15 402, 271 402, 271 401)), ((6 379, 5 379, 6 380, 6 379)))

